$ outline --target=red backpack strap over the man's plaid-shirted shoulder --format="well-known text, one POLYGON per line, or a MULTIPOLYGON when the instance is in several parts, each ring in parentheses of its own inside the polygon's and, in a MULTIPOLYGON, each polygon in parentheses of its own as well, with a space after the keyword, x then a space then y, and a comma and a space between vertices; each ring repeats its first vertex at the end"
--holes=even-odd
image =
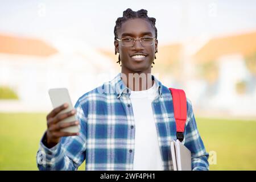
POLYGON ((184 139, 185 122, 187 120, 187 98, 184 90, 169 88, 174 105, 174 118, 176 122, 176 136, 180 142, 184 139))

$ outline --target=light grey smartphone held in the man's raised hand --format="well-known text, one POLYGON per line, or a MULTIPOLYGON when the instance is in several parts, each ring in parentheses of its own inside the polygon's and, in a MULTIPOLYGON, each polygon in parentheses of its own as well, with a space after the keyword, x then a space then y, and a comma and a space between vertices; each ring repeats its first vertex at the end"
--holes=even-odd
MULTIPOLYGON (((69 96, 67 88, 49 89, 48 93, 49 93, 49 97, 51 98, 53 108, 59 107, 64 103, 68 104, 67 109, 61 110, 59 114, 67 113, 68 111, 71 111, 73 109, 73 105, 72 105, 71 98, 69 96)), ((63 119, 63 121, 60 121, 60 123, 67 123, 72 121, 76 121, 75 115, 72 115, 68 118, 63 119)), ((69 132, 69 133, 79 133, 80 125, 70 126, 65 129, 62 129, 61 131, 69 132)))

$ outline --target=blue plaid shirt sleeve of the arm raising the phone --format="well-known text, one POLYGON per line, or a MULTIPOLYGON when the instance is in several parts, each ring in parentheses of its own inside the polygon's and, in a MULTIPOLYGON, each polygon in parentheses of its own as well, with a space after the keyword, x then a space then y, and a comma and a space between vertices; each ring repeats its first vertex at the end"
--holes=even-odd
POLYGON ((60 142, 52 148, 47 148, 40 141, 36 154, 39 170, 77 170, 85 160, 86 151, 86 117, 84 110, 77 101, 75 105, 76 118, 80 122, 80 133, 77 136, 62 137, 60 142))

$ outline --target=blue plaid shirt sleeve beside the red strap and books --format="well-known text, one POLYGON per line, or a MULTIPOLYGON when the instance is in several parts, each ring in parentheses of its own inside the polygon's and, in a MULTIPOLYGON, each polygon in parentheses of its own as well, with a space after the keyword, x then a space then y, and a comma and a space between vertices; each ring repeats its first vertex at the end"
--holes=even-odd
POLYGON ((183 144, 191 151, 192 170, 207 171, 209 170, 209 154, 205 150, 203 140, 201 139, 199 130, 197 129, 192 104, 189 100, 187 100, 187 107, 187 122, 185 125, 183 144))

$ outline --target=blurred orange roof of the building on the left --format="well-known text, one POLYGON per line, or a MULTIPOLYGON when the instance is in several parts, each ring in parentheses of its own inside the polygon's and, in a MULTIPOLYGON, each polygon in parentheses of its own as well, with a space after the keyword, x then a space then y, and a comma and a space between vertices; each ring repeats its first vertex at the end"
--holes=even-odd
POLYGON ((0 53, 50 56, 57 52, 55 48, 42 40, 0 35, 0 53))

